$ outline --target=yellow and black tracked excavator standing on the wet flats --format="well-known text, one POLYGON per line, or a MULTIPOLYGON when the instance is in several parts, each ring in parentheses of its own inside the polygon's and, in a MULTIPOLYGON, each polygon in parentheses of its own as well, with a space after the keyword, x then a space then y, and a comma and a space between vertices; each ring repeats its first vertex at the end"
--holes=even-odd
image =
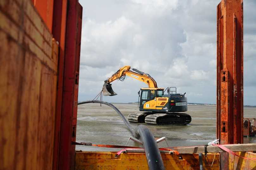
POLYGON ((156 81, 149 74, 130 66, 120 68, 104 81, 103 96, 117 95, 110 83, 116 79, 124 81, 126 75, 148 85, 147 88, 141 88, 138 92, 140 99, 138 105, 143 112, 129 114, 129 122, 153 125, 187 125, 191 122, 189 114, 177 113, 187 111, 185 93, 177 93, 176 87, 158 88, 156 81), (164 94, 166 90, 168 94, 164 94))

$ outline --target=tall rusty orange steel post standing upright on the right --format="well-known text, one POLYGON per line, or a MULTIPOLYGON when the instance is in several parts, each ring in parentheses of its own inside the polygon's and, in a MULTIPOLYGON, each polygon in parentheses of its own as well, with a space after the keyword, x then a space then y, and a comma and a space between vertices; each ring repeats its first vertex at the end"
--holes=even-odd
MULTIPOLYGON (((243 0, 217 6, 217 138, 243 143, 243 0)), ((228 154, 221 157, 228 169, 228 154)))

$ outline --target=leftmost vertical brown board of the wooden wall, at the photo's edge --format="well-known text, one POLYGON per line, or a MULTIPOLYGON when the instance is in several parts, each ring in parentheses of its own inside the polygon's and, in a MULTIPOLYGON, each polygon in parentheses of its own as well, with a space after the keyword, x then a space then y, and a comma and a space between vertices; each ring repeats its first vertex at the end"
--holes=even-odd
POLYGON ((0 30, 0 42, 0 140, 3 144, 0 147, 0 165, 3 169, 14 169, 24 51, 2 30, 0 30))

